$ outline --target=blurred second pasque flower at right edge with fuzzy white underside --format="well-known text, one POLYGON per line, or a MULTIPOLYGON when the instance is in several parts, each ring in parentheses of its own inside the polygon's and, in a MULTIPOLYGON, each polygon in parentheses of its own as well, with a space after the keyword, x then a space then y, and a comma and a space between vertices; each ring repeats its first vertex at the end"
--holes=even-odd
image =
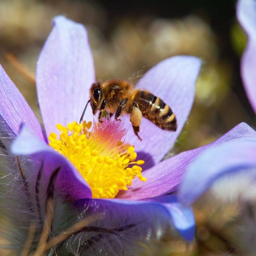
MULTIPOLYGON (((239 0, 237 18, 248 36, 241 60, 241 76, 251 106, 256 111, 256 1, 239 0)), ((231 130, 229 134, 233 132, 231 130)), ((180 187, 179 197, 183 204, 193 204, 213 188, 223 202, 251 201, 255 208, 256 132, 245 125, 240 125, 239 132, 241 136, 205 150, 190 164, 180 187)), ((255 227, 255 223, 252 226, 255 227)), ((245 231, 249 231, 248 228, 245 231)), ((255 230, 252 237, 254 234, 255 230)), ((249 232, 244 237, 241 235, 242 239, 247 243, 250 241, 254 255, 255 246, 252 244, 255 245, 255 239, 249 238, 249 232)))

